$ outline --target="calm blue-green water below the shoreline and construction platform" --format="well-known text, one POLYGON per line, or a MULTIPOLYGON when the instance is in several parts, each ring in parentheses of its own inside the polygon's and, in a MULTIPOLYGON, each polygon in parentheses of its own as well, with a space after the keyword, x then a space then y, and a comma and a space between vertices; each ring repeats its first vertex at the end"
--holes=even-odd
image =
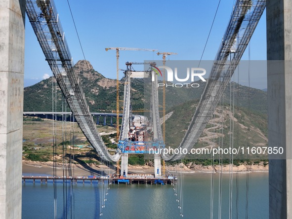
MULTIPOLYGON (((246 218, 246 174, 233 175, 232 218, 246 218), (238 210, 236 191, 238 188, 238 210)), ((210 219, 211 175, 184 176, 183 218, 210 219)), ((248 218, 268 219, 268 174, 250 174, 248 218)), ((75 219, 179 219, 180 210, 171 185, 112 184, 107 195, 103 216, 99 217, 98 183, 57 183, 57 218, 64 218, 63 194, 67 197, 67 218, 75 219), (66 192, 67 191, 67 192, 66 192)), ((213 218, 218 218, 218 175, 214 177, 213 218)), ((54 218, 53 183, 26 181, 22 187, 22 218, 54 218)), ((223 175, 221 218, 229 218, 229 175, 223 175)), ((65 217, 66 218, 66 217, 65 217)))

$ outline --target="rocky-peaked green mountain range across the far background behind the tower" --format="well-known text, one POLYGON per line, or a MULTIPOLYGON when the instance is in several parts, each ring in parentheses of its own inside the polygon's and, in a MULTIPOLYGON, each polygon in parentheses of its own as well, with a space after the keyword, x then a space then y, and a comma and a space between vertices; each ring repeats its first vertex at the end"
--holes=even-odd
MULTIPOLYGON (((116 110, 116 80, 104 77, 95 71, 88 61, 81 60, 74 66, 75 72, 80 77, 83 91, 92 112, 111 112, 116 110)), ((123 110, 124 78, 119 82, 120 110, 123 110)), ((196 100, 201 97, 204 89, 204 82, 196 82, 200 86, 192 87, 172 87, 168 82, 166 87, 166 110, 187 101, 196 100)), ((233 87, 233 84, 231 84, 233 87)), ((243 108, 250 108, 256 112, 267 113, 267 93, 255 88, 249 88, 239 84, 234 84, 236 105, 243 108), (239 100, 239 101, 237 101, 239 100), (250 107, 249 107, 250 106, 250 107)), ((24 88, 24 111, 51 111, 52 110, 52 90, 57 91, 56 110, 65 109, 65 100, 58 86, 52 77, 24 88), (54 86, 54 88, 52 88, 54 86)), ((233 90, 233 89, 232 89, 233 90)), ((163 89, 159 88, 160 110, 162 110, 163 89)), ((231 94, 233 100, 233 92, 231 94)), ((224 103, 230 102, 230 87, 228 86, 224 94, 224 103)), ((131 79, 131 105, 132 110, 149 110, 150 107, 150 81, 149 79, 131 79)), ((69 108, 67 107, 67 111, 69 108)))

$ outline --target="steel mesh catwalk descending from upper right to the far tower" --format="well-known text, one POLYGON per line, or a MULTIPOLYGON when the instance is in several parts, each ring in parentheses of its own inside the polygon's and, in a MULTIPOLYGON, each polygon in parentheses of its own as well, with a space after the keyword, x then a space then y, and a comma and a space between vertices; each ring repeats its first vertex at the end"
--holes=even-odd
MULTIPOLYGON (((186 148, 189 151, 198 141, 248 46, 265 6, 265 0, 236 1, 201 100, 178 148, 186 148)), ((179 160, 184 156, 185 154, 167 154, 163 158, 179 160)))

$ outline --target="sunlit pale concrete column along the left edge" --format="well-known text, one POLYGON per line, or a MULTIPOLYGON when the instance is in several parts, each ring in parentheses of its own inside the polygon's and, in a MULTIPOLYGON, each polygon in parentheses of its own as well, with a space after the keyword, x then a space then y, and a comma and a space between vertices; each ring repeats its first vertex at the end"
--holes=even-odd
POLYGON ((21 219, 25 0, 0 0, 0 219, 21 219))

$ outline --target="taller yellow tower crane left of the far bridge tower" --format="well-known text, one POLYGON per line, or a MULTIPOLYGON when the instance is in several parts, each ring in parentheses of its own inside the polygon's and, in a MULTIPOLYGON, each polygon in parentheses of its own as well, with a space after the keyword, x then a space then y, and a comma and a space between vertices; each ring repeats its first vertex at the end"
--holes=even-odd
MULTIPOLYGON (((116 50, 117 54, 117 142, 119 142, 120 137, 120 121, 119 121, 119 113, 120 113, 120 100, 119 100, 119 57, 120 50, 133 50, 133 51, 157 51, 157 49, 141 49, 141 48, 126 48, 126 47, 109 47, 105 48, 105 51, 108 50, 116 50)), ((119 161, 117 162, 117 175, 119 175, 119 161)))

